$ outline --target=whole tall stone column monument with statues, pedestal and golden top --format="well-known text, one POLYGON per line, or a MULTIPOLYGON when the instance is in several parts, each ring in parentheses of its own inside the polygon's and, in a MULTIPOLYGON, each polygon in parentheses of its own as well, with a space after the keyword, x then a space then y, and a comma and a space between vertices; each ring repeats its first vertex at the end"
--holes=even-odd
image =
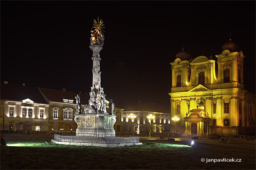
MULTIPOLYGON (((106 111, 105 94, 101 87, 101 58, 99 51, 102 50, 104 43, 103 30, 104 23, 102 20, 93 20, 93 29, 91 30, 90 49, 93 50, 93 86, 91 87, 89 104, 84 107, 83 114, 79 107, 79 102, 76 102, 75 122, 78 124, 76 136, 93 136, 93 137, 114 137, 115 130, 113 128, 116 122, 114 115, 114 103, 109 103, 109 113, 106 111)), ((80 99, 77 96, 78 100, 80 99)))

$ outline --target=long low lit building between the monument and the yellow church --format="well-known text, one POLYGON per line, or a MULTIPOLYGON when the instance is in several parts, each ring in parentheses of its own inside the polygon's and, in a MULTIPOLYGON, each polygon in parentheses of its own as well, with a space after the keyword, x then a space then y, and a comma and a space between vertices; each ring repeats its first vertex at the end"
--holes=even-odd
POLYGON ((158 104, 138 102, 131 107, 125 107, 121 121, 123 122, 123 131, 133 131, 140 135, 148 135, 151 132, 170 132, 170 116, 164 107, 158 104), (128 118, 128 115, 135 115, 135 119, 128 118), (148 119, 152 114, 154 119, 148 119))

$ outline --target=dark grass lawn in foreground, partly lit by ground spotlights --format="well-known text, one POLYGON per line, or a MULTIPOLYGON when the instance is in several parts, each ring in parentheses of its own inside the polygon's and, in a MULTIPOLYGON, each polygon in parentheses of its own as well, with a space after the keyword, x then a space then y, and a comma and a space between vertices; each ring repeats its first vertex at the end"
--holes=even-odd
POLYGON ((143 145, 103 148, 18 139, 1 146, 0 169, 255 169, 255 151, 187 142, 141 141, 143 145), (201 159, 242 162, 202 162, 201 159))

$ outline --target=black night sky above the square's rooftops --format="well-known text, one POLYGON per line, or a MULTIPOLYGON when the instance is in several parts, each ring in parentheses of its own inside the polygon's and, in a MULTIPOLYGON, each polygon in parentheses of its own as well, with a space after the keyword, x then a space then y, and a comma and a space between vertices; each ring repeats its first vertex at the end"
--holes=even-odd
MULTIPOLYGON (((101 86, 119 106, 138 100, 170 107, 177 52, 214 56, 232 41, 255 93, 255 1, 0 1, 1 82, 89 92, 90 30, 105 23, 101 86)), ((216 62, 217 64, 217 62, 216 62)))

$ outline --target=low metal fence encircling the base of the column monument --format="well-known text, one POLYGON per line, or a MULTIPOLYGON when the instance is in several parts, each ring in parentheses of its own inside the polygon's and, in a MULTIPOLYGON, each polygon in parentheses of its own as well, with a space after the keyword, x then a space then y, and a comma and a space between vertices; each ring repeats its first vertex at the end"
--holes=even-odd
POLYGON ((75 134, 54 134, 54 140, 58 142, 83 142, 83 143, 137 143, 139 137, 93 137, 77 136, 75 134))

